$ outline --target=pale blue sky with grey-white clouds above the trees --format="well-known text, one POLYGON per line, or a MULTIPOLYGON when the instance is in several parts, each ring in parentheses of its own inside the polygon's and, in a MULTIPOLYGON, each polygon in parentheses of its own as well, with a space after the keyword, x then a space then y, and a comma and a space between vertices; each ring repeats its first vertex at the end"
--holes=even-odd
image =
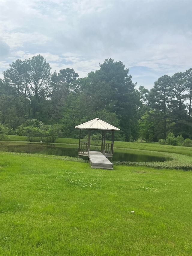
POLYGON ((41 54, 79 77, 122 61, 137 87, 192 68, 191 0, 1 0, 2 71, 41 54))

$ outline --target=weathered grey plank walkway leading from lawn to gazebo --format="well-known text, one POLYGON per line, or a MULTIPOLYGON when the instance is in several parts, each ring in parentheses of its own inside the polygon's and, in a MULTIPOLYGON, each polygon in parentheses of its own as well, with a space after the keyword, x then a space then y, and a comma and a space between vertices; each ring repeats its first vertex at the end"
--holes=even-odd
POLYGON ((113 170, 113 164, 99 151, 89 151, 88 158, 91 168, 113 170))

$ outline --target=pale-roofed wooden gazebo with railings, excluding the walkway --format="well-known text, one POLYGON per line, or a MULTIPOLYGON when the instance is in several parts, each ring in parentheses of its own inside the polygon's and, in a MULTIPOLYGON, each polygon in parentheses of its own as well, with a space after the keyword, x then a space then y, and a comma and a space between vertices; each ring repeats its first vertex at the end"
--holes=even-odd
POLYGON ((99 118, 95 118, 91 121, 85 122, 81 125, 75 126, 75 128, 80 129, 79 133, 79 155, 89 156, 90 152, 90 140, 91 140, 91 131, 100 130, 102 131, 102 140, 101 140, 101 153, 106 157, 113 157, 113 144, 114 144, 114 133, 120 129, 104 122, 99 118), (81 129, 88 130, 88 141, 81 141, 81 129), (111 143, 105 142, 105 135, 107 131, 112 131, 112 140, 111 143))

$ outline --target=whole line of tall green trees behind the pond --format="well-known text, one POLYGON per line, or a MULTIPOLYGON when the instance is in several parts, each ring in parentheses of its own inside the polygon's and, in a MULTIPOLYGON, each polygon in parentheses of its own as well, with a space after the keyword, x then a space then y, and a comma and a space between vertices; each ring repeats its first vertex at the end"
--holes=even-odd
POLYGON ((74 126, 98 117, 121 129, 116 140, 155 142, 170 132, 192 139, 192 68, 160 77, 149 91, 136 89, 121 61, 108 58, 99 66, 79 78, 70 68, 51 73, 41 55, 17 59, 3 71, 1 127, 21 134, 33 120, 47 131, 59 125, 60 136, 77 138, 74 126))

